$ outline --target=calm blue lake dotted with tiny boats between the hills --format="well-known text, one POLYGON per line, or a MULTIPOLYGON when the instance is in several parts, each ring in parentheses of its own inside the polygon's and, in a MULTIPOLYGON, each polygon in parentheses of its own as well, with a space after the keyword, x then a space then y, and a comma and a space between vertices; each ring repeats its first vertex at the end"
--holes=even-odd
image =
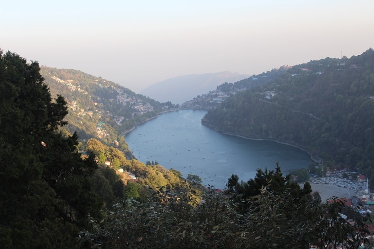
POLYGON ((160 115, 125 135, 135 157, 157 161, 167 169, 198 175, 204 185, 223 189, 236 174, 239 181, 254 178, 256 169, 275 169, 285 175, 312 163, 305 151, 274 141, 251 140, 222 134, 201 124, 206 111, 180 110, 160 115))

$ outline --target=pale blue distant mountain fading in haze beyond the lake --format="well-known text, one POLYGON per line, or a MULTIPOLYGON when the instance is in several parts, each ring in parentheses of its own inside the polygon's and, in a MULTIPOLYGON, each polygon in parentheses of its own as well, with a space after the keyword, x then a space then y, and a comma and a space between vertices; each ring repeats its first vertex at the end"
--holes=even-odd
POLYGON ((229 71, 183 75, 155 83, 140 94, 160 102, 171 101, 181 105, 197 95, 214 90, 224 82, 237 82, 249 76, 229 71))

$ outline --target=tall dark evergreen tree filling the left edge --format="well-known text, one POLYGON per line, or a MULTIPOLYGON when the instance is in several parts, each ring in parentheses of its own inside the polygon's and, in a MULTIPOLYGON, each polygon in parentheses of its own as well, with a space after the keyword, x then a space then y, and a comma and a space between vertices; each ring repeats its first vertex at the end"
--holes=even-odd
POLYGON ((9 248, 76 248, 88 214, 101 217, 97 168, 81 159, 66 125, 66 101, 52 100, 36 62, 0 51, 0 241, 9 248))

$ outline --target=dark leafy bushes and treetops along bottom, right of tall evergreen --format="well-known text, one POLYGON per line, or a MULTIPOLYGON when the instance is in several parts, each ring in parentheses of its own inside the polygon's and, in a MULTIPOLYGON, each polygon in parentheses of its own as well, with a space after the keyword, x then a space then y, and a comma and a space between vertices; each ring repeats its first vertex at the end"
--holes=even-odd
MULTIPOLYGON (((301 249, 358 248, 367 242, 365 219, 353 216, 355 223, 348 223, 341 218, 342 202, 317 204, 309 184, 303 190, 291 185, 272 191, 272 181, 281 172, 272 175, 258 194, 243 199, 248 206, 244 213, 238 212, 231 194, 210 187, 195 205, 194 190, 186 182, 177 189, 154 190, 147 203, 115 203, 103 220, 92 220, 92 228, 81 232, 80 242, 100 248, 301 249)), ((287 185, 280 177, 275 181, 287 185)))

